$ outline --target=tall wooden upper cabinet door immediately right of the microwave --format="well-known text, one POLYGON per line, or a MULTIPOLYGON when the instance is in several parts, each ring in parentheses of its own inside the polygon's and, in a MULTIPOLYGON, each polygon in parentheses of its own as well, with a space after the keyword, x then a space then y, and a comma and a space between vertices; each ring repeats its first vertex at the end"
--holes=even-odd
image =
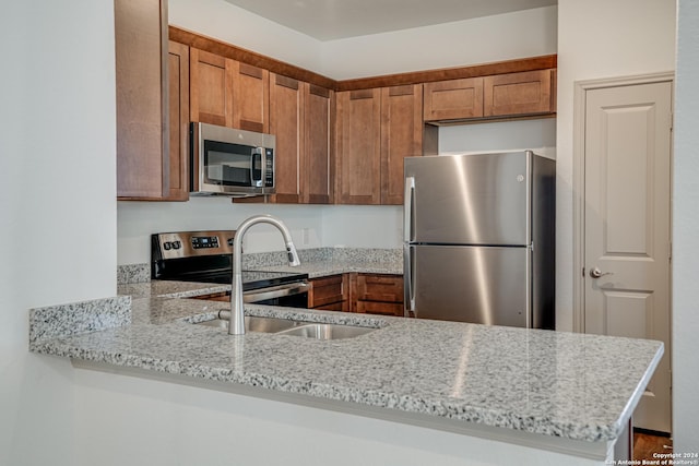
POLYGON ((304 84, 277 74, 271 76, 270 131, 276 138, 273 202, 300 202, 304 84))

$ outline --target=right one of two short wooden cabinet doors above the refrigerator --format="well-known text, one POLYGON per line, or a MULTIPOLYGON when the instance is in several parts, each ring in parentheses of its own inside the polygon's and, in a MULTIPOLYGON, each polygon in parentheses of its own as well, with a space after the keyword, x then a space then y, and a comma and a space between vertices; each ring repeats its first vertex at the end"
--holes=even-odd
POLYGON ((555 111, 552 74, 552 70, 538 70, 484 77, 484 117, 555 111))

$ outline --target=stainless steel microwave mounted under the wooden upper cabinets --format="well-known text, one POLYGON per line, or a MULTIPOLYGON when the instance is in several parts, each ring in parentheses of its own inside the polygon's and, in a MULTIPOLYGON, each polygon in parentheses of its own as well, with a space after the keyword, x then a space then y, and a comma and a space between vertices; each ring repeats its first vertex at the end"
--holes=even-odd
POLYGON ((189 141, 190 194, 274 193, 272 134, 192 122, 189 141))

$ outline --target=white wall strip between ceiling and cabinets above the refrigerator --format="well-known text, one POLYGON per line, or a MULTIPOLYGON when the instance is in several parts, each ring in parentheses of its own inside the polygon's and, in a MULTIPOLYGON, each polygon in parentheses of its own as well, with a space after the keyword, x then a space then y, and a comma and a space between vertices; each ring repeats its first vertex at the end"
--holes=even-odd
POLYGON ((320 72, 347 80, 556 53, 555 26, 556 7, 546 7, 330 40, 320 72))

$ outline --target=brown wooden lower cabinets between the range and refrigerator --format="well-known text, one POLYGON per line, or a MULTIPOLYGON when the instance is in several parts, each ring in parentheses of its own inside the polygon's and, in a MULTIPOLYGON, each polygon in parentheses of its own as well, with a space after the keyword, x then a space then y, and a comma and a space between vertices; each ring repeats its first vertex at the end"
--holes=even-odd
POLYGON ((403 276, 350 273, 310 280, 308 307, 363 314, 403 315, 403 276))

